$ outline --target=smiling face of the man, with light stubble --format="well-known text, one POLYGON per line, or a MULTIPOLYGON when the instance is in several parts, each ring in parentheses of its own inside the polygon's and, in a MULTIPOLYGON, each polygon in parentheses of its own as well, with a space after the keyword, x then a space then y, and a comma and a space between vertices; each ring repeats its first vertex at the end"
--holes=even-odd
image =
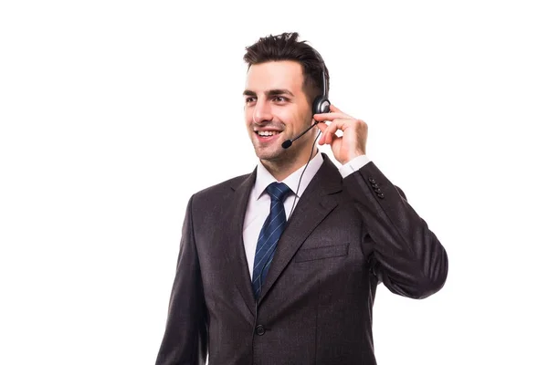
POLYGON ((246 124, 260 160, 291 163, 308 160, 315 129, 288 150, 281 147, 283 141, 296 137, 312 122, 303 79, 302 68, 295 61, 266 62, 249 68, 244 91, 246 124))

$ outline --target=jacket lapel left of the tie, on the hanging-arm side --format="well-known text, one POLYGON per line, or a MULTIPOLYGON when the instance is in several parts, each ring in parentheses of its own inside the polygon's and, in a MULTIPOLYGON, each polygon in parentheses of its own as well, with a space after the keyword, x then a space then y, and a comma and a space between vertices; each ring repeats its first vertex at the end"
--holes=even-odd
POLYGON ((249 174, 248 178, 242 183, 236 183, 231 186, 234 190, 234 197, 229 200, 230 206, 227 207, 225 219, 221 221, 227 223, 221 229, 225 232, 223 234, 225 237, 224 241, 230 247, 221 255, 225 255, 226 257, 227 266, 231 269, 234 282, 249 309, 251 317, 248 316, 248 318, 250 320, 255 316, 255 297, 253 296, 253 289, 251 287, 248 259, 244 247, 243 226, 248 208, 249 193, 255 183, 256 176, 257 169, 249 174))

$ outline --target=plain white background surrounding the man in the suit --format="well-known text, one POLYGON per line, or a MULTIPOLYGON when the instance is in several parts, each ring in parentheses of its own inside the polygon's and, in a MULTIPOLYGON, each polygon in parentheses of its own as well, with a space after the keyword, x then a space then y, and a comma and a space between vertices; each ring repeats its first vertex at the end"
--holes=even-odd
POLYGON ((190 195, 256 163, 245 47, 283 31, 448 250, 433 297, 379 287, 379 364, 548 363, 544 2, 188 3, 1 3, 0 363, 153 364, 190 195))

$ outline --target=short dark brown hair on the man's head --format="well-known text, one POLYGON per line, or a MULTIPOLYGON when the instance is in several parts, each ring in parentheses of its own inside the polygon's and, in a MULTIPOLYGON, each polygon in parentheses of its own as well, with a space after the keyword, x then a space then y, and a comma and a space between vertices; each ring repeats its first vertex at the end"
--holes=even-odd
POLYGON ((299 33, 282 33, 278 36, 264 36, 252 46, 246 47, 244 61, 248 69, 269 61, 297 61, 302 67, 303 90, 309 101, 321 95, 322 72, 325 72, 326 91, 329 91, 329 71, 320 53, 308 45, 307 41, 298 41, 299 33))

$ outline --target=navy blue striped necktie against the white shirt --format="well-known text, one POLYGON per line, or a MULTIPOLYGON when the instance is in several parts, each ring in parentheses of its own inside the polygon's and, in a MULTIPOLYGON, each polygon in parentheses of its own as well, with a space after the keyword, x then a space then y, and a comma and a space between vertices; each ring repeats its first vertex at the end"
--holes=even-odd
POLYGON ((270 195, 270 214, 258 235, 255 263, 253 264, 253 293, 256 298, 261 287, 265 284, 279 236, 285 228, 286 215, 283 201, 290 191, 290 187, 285 183, 271 183, 267 187, 267 192, 270 195))

